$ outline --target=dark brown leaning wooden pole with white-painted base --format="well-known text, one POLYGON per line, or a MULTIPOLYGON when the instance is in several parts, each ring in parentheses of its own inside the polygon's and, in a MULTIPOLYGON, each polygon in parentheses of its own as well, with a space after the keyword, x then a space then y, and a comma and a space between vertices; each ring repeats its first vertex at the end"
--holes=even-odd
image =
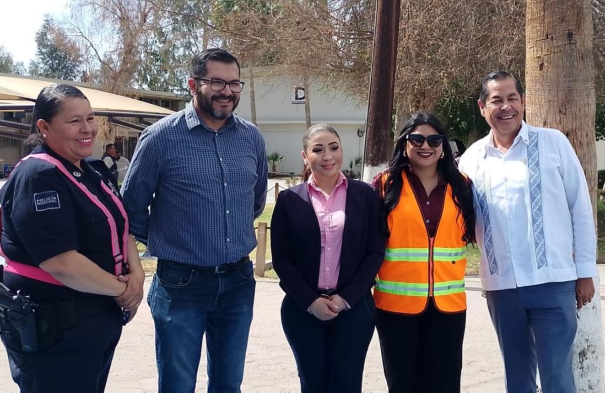
POLYGON ((391 117, 397 65, 397 36, 401 0, 377 0, 370 97, 365 132, 363 180, 371 181, 384 169, 391 151, 391 117))

